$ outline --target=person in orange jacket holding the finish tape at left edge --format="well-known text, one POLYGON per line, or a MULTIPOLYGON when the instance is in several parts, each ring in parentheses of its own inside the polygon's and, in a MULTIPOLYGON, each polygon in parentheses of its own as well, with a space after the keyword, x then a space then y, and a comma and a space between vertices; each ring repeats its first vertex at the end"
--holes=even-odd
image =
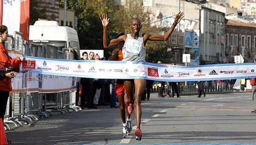
MULTIPOLYGON (((4 25, 0 25, 0 68, 13 67, 12 71, 19 72, 19 66, 24 57, 11 58, 7 49, 4 46, 4 42, 7 41, 8 28, 4 25)), ((10 70, 6 73, 10 73, 10 70)), ((0 81, 0 118, 4 118, 6 112, 6 104, 9 98, 9 93, 12 90, 12 79, 4 78, 0 81)))

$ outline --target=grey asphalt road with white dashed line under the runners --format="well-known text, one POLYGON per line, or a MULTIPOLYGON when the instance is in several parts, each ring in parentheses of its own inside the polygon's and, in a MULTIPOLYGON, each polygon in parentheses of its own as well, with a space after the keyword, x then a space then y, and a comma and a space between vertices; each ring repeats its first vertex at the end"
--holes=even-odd
MULTIPOLYGON (((143 137, 135 140, 133 131, 122 138, 119 108, 72 113, 53 113, 32 125, 12 127, 6 136, 12 145, 83 144, 256 144, 256 113, 251 93, 207 94, 157 98, 142 101, 143 137)), ((135 108, 136 109, 136 108, 135 108)))

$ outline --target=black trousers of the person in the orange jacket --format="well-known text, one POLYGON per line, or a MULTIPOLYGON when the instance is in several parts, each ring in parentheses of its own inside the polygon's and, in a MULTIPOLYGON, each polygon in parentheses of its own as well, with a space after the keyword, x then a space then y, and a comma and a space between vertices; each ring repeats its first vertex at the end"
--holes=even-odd
POLYGON ((9 98, 9 91, 0 91, 0 118, 4 118, 6 112, 6 105, 9 98))

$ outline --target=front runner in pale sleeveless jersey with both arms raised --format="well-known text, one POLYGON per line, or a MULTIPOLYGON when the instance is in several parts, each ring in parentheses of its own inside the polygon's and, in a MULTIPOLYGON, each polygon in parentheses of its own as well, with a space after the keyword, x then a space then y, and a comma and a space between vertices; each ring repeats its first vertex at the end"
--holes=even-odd
MULTIPOLYGON (((164 35, 151 35, 148 33, 140 33, 140 29, 142 27, 141 21, 138 18, 134 18, 131 20, 131 34, 126 34, 119 36, 116 39, 108 40, 108 24, 109 18, 107 14, 102 14, 100 17, 103 26, 103 46, 104 48, 108 48, 111 46, 116 46, 120 42, 124 42, 124 46, 122 48, 123 60, 122 61, 143 61, 145 62, 146 50, 145 45, 147 41, 167 41, 170 35, 172 34, 175 26, 180 22, 180 20, 184 17, 184 12, 178 12, 175 16, 174 23, 171 28, 164 35)), ((128 102, 125 102, 128 105, 128 112, 132 113, 133 110, 133 96, 135 94, 134 105, 136 107, 135 117, 136 117, 136 125, 137 129, 135 130, 136 140, 141 140, 142 132, 140 130, 140 122, 141 122, 141 105, 140 98, 143 95, 145 90, 145 79, 130 79, 125 80, 125 92, 128 97, 128 102), (134 89, 135 87, 135 89, 134 89), (127 104, 129 103, 129 104, 127 104)))

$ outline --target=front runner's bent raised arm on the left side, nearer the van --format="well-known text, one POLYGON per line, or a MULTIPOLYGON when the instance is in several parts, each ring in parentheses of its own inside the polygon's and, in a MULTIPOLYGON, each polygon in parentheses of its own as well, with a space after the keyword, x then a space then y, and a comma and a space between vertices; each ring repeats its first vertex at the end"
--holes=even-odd
POLYGON ((103 26, 103 46, 104 48, 108 48, 111 46, 115 46, 117 44, 119 44, 121 41, 125 41, 126 39, 126 35, 125 38, 123 36, 120 36, 117 39, 112 39, 111 41, 108 41, 108 23, 109 23, 109 18, 107 14, 102 14, 102 17, 100 17, 100 20, 102 21, 102 26, 103 26))

